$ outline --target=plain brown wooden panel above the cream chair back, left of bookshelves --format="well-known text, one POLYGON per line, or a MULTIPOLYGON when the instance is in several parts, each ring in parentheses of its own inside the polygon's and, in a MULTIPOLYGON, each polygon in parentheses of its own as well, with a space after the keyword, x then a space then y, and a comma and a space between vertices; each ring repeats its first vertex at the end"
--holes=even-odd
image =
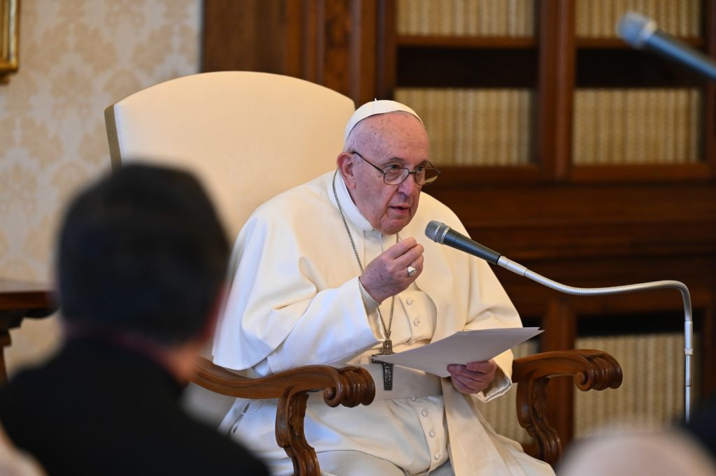
POLYGON ((375 96, 377 0, 205 0, 202 71, 288 74, 375 96))

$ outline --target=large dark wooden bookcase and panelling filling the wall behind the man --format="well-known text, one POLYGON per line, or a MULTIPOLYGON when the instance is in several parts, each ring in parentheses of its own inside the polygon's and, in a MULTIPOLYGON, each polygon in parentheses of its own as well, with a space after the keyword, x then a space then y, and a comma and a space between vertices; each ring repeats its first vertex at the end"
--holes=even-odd
MULTIPOLYGON (((476 241, 573 286, 686 283, 700 339, 695 379, 700 394, 716 390, 716 89, 614 34, 616 19, 631 9, 714 56, 716 0, 204 6, 204 71, 291 74, 357 105, 395 98, 415 107, 443 172, 426 192, 449 205, 476 241)), ((584 334, 585 322, 613 333, 611 344, 621 349, 614 316, 637 316, 644 339, 659 334, 669 349, 678 339, 670 327, 671 336, 660 335, 666 321, 654 317, 679 324, 675 291, 573 297, 495 273, 518 311, 546 329, 541 351, 599 343, 604 336, 584 334)), ((634 339, 639 349, 655 342, 634 339)), ((589 423, 572 412, 571 382, 550 387, 558 397, 550 421, 567 443, 589 423)), ((674 404, 659 411, 673 414, 674 404)))

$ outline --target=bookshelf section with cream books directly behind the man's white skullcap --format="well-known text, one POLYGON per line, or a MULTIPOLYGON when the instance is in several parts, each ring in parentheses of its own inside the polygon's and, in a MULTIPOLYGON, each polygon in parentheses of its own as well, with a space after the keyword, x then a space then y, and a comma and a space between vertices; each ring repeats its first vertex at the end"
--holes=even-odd
POLYGON ((460 168, 455 175, 465 183, 477 175, 499 178, 504 167, 510 167, 511 180, 538 178, 532 143, 539 53, 535 3, 379 4, 387 30, 384 59, 392 65, 379 66, 384 74, 377 95, 417 106, 433 142, 431 160, 460 168))

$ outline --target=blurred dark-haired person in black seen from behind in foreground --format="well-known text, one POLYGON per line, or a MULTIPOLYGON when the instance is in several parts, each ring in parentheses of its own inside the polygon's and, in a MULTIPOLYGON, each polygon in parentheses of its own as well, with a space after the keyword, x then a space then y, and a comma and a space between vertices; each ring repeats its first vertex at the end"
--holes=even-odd
POLYGON ((57 247, 64 345, 0 389, 15 445, 51 475, 266 475, 180 407, 227 261, 188 173, 129 165, 80 193, 57 247))

